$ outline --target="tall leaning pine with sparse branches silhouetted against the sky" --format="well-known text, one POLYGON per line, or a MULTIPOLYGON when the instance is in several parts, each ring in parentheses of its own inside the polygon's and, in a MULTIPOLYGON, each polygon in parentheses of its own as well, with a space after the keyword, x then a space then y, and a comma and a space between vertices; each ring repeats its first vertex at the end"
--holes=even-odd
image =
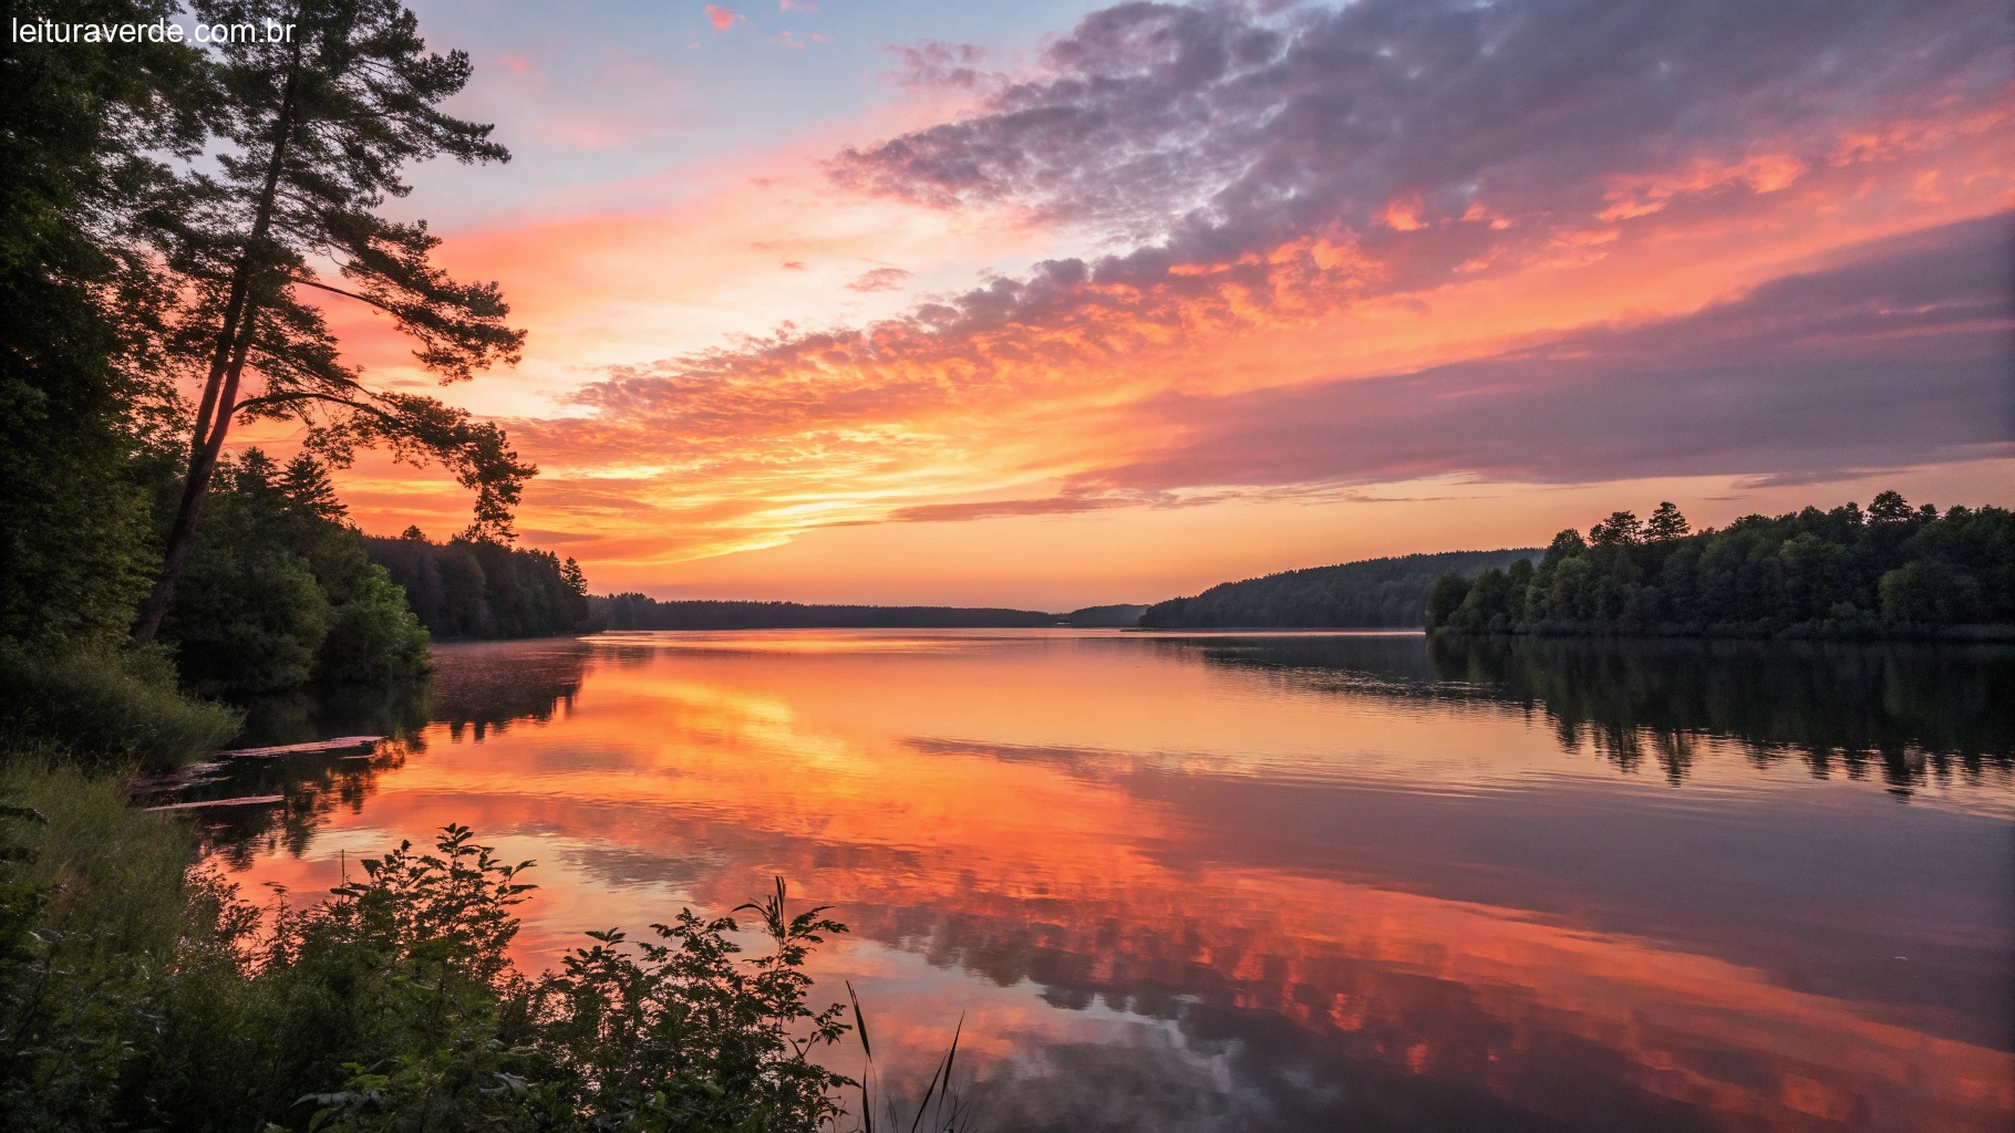
POLYGON ((429 262, 425 223, 379 215, 409 187, 411 161, 449 155, 508 161, 490 127, 437 105, 469 78, 463 52, 433 54, 415 16, 393 0, 197 0, 210 24, 290 24, 292 34, 218 48, 218 175, 191 175, 185 207, 159 219, 167 266, 189 294, 169 336, 202 372, 187 467, 163 565, 133 638, 151 640, 187 559, 204 497, 238 419, 284 419, 308 447, 345 465, 359 445, 435 459, 476 491, 474 533, 510 537, 510 511, 536 469, 496 425, 429 396, 367 388, 302 288, 363 302, 417 340, 415 358, 443 382, 516 362, 524 332, 504 324, 496 284, 457 284, 429 262), (343 282, 314 264, 334 262, 343 282), (260 388, 244 396, 244 378, 260 388))

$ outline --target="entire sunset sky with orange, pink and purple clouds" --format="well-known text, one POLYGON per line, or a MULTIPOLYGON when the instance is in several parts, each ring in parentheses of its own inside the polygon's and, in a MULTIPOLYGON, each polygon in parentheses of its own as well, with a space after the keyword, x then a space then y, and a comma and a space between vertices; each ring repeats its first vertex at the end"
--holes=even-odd
POLYGON ((2015 503, 2001 0, 415 10, 514 161, 395 207, 530 332, 443 394, 596 592, 1068 610, 1660 499, 2015 503))

